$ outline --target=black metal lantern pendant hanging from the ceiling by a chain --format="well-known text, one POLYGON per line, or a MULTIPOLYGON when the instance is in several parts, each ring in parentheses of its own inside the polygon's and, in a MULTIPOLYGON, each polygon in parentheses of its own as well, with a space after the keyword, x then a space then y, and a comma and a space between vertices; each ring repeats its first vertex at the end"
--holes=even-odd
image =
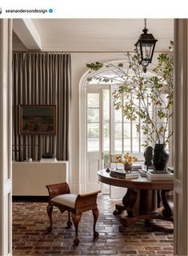
POLYGON ((134 46, 137 47, 141 54, 141 62, 139 64, 143 66, 143 70, 146 72, 146 66, 152 61, 154 46, 158 40, 154 39, 153 34, 147 34, 146 18, 144 19, 144 25, 144 29, 142 30, 143 34, 140 35, 138 42, 136 42, 134 46))

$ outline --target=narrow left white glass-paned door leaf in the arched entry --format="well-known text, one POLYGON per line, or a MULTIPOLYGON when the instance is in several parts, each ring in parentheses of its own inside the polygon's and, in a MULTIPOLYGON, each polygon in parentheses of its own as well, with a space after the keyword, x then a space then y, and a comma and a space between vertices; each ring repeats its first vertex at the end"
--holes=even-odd
POLYGON ((86 89, 86 191, 101 189, 98 170, 110 161, 109 86, 86 89))

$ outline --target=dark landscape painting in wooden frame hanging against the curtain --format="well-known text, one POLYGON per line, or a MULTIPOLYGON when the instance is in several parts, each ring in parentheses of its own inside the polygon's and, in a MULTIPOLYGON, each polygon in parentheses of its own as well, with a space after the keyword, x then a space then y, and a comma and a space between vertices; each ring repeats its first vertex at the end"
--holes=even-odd
POLYGON ((56 134, 56 106, 19 105, 19 134, 56 134))

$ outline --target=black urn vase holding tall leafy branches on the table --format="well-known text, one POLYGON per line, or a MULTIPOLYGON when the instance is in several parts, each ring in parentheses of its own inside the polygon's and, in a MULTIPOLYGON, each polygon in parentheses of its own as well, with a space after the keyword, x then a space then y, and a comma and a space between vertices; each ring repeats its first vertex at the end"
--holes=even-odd
POLYGON ((169 159, 169 151, 165 144, 155 144, 154 146, 154 168, 156 171, 165 171, 166 163, 169 159))

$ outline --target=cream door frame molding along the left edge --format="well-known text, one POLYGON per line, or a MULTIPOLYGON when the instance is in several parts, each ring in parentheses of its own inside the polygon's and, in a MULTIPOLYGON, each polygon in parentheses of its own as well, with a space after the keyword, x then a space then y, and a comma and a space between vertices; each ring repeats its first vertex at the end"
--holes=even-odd
POLYGON ((0 254, 12 254, 12 19, 0 20, 0 254))

